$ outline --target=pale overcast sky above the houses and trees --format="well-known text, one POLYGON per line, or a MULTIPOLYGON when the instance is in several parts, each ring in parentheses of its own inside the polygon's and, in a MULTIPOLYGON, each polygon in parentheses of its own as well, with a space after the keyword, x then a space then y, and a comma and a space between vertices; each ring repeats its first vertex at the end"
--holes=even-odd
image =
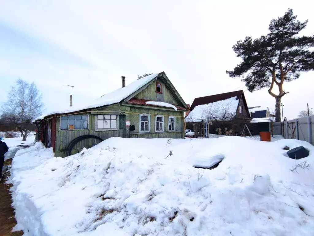
MULTIPOLYGON (((34 81, 46 111, 86 103, 138 75, 165 71, 186 103, 243 89, 249 106, 268 106, 267 89, 250 93, 230 78, 240 59, 232 46, 268 33, 292 8, 314 33, 314 2, 284 1, 4 1, 0 0, 0 103, 17 78, 34 81)), ((314 72, 285 83, 284 116, 314 107, 314 72)))

